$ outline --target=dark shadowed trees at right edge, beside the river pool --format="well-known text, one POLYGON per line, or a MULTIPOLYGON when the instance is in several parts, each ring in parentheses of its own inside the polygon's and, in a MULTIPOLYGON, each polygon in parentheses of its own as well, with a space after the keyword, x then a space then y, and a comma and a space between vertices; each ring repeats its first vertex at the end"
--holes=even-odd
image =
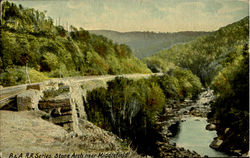
POLYGON ((241 54, 228 64, 212 82, 217 94, 212 106, 214 117, 222 128, 229 127, 240 137, 241 149, 248 151, 249 144, 249 51, 245 45, 241 54))

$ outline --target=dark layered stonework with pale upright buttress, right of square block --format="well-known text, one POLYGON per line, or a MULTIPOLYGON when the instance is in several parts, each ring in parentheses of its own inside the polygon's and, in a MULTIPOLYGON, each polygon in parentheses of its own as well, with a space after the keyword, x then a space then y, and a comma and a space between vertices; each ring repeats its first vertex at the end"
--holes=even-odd
POLYGON ((39 101, 38 109, 46 112, 44 118, 48 121, 80 135, 78 119, 86 118, 81 90, 65 83, 50 85, 53 86, 44 89, 44 97, 39 101))

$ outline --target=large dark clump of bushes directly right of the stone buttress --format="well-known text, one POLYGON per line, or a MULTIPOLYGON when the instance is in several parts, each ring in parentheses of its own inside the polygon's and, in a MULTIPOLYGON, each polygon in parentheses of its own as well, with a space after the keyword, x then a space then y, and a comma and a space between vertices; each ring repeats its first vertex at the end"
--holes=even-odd
POLYGON ((157 83, 117 77, 108 88, 98 88, 87 95, 88 119, 96 125, 149 148, 155 138, 154 124, 165 105, 165 96, 157 83), (154 134, 152 134, 154 133, 154 134), (149 138, 149 144, 142 144, 149 138))

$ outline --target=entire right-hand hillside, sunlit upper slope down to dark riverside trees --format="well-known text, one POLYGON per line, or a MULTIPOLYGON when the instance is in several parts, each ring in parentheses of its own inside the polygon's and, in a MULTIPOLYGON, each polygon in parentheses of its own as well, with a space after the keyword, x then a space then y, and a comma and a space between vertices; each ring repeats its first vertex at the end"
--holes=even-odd
POLYGON ((153 72, 182 67, 196 74, 216 95, 208 118, 218 137, 210 146, 249 150, 249 17, 144 60, 153 72))

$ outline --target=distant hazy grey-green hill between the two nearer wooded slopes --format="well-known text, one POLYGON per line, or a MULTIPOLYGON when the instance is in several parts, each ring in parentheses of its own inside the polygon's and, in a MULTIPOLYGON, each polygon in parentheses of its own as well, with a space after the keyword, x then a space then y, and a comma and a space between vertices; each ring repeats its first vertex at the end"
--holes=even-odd
POLYGON ((209 32, 117 32, 111 30, 91 30, 91 33, 106 36, 117 43, 129 45, 135 56, 139 58, 151 56, 154 53, 168 49, 175 44, 189 42, 209 32))

